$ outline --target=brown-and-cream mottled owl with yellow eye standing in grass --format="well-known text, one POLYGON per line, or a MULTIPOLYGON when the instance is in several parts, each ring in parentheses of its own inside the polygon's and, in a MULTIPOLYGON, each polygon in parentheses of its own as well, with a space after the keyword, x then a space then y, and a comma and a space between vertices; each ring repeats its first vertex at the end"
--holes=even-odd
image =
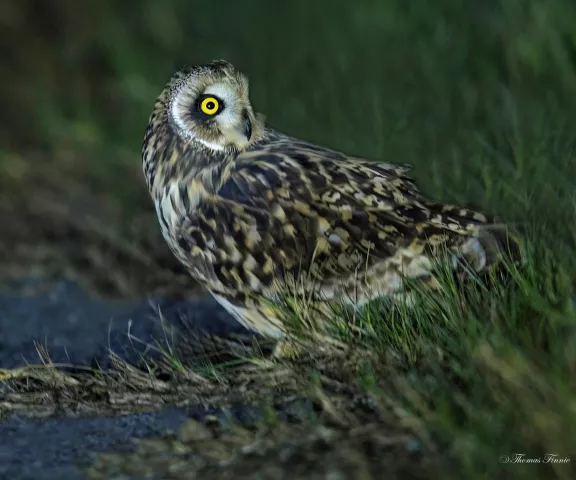
POLYGON ((171 77, 142 163, 174 255, 241 324, 279 344, 283 288, 361 306, 401 297, 407 279, 435 288, 436 262, 484 272, 508 238, 490 215, 426 198, 409 166, 267 127, 246 76, 222 60, 171 77))

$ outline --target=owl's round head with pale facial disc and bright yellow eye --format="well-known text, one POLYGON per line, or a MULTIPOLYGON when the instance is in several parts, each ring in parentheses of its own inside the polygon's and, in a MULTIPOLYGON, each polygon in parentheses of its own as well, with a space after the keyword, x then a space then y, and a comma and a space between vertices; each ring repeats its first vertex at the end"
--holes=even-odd
POLYGON ((162 97, 168 123, 186 143, 214 152, 242 151, 262 133, 263 118, 252 110, 248 80, 226 61, 182 68, 162 97))

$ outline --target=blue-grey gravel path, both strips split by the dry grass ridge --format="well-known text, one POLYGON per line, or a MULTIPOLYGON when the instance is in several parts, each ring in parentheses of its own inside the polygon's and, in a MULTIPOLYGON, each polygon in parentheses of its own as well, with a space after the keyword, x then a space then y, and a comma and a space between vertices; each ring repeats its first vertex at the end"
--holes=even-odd
MULTIPOLYGON (((188 318, 200 330, 217 334, 243 332, 212 299, 193 303, 105 302, 77 286, 57 284, 36 297, 0 294, 0 368, 37 363, 34 341, 48 347, 54 362, 106 366, 108 346, 127 359, 137 353, 127 338, 143 341, 162 335, 153 305, 170 323, 188 318)), ((144 347, 141 347, 144 348, 144 347)), ((96 451, 131 448, 132 437, 157 436, 176 430, 188 415, 183 409, 109 418, 0 420, 0 478, 11 480, 82 478, 76 465, 96 451)))

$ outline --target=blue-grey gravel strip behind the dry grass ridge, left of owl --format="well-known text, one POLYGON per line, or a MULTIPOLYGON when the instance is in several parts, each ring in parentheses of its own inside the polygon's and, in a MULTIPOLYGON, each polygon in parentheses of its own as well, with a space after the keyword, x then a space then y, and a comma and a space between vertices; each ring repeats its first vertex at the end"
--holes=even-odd
POLYGON ((138 348, 144 346, 128 341, 129 329, 143 342, 163 338, 154 306, 168 323, 181 325, 186 319, 202 331, 245 332, 211 298, 192 303, 109 302, 91 298, 76 285, 59 283, 36 297, 0 294, 0 368, 38 362, 34 341, 48 347, 55 363, 87 365, 97 360, 106 366, 109 348, 136 360, 138 348))

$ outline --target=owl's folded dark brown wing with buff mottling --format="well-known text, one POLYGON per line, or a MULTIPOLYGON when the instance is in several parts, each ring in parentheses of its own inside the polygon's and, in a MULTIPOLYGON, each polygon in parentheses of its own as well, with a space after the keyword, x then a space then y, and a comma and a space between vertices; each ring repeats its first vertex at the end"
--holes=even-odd
POLYGON ((264 293, 286 273, 332 283, 399 249, 452 246, 487 221, 425 199, 406 172, 287 138, 243 153, 183 228, 191 268, 227 295, 264 293))

